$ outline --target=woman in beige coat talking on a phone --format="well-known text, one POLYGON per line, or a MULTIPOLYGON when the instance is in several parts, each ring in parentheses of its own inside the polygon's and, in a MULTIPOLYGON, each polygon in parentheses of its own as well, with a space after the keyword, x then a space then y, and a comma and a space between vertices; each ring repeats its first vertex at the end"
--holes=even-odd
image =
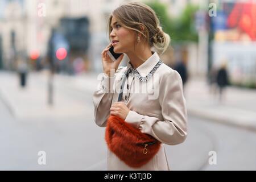
POLYGON ((182 143, 187 136, 181 77, 158 56, 167 49, 170 37, 159 26, 155 12, 142 3, 127 3, 113 11, 109 18, 109 37, 111 44, 101 53, 104 78, 93 95, 95 122, 105 127, 109 115, 116 115, 162 144, 154 158, 140 168, 127 166, 108 150, 108 170, 169 170, 164 144, 182 143), (115 53, 129 57, 126 67, 118 68, 123 54, 116 61, 110 59, 107 51, 111 46, 115 53), (126 73, 130 74, 122 100, 117 102, 126 73), (150 87, 150 92, 143 92, 148 90, 148 85, 154 89, 150 87))

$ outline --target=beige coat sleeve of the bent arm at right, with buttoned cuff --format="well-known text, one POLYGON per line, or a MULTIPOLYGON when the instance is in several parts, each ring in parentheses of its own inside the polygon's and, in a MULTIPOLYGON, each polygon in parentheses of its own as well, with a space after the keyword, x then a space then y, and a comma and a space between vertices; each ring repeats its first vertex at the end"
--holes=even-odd
POLYGON ((164 121, 131 110, 125 121, 162 143, 175 145, 184 142, 187 137, 187 109, 182 80, 176 71, 170 71, 160 79, 159 103, 164 121))

